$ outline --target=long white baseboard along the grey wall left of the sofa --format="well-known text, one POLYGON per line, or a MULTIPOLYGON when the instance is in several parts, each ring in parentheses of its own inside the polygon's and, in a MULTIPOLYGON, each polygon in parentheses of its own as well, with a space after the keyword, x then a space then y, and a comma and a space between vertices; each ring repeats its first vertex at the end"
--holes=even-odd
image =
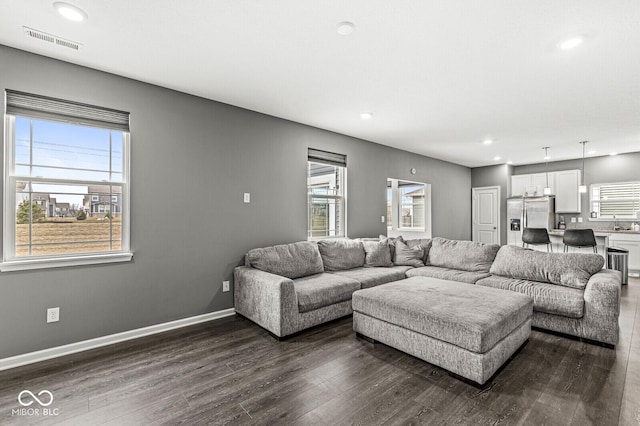
POLYGON ((201 322, 228 317, 235 314, 235 312, 236 310, 234 308, 229 308, 222 311, 197 315, 195 317, 183 318, 176 321, 151 325, 149 327, 123 331, 122 333, 96 337, 95 339, 83 340, 82 342, 70 343, 68 345, 57 346, 55 348, 43 349, 41 351, 29 352, 22 355, 3 358, 0 359, 0 371, 20 367, 27 364, 33 364, 34 362, 45 361, 47 359, 57 358, 64 355, 70 355, 77 352, 87 351, 89 349, 112 345, 114 343, 124 342, 126 340, 138 339, 140 337, 162 333, 164 331, 174 330, 176 328, 187 327, 189 325, 199 324, 201 322))

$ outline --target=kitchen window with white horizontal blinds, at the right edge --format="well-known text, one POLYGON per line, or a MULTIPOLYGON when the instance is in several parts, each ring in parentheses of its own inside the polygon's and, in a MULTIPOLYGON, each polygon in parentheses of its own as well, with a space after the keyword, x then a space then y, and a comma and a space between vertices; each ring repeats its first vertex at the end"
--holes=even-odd
POLYGON ((591 212, 600 219, 640 219, 640 182, 591 185, 591 212))

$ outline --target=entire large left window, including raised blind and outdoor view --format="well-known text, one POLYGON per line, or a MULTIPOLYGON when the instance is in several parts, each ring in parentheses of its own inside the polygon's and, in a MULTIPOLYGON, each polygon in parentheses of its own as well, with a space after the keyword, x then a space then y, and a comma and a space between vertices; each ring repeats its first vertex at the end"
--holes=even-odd
POLYGON ((6 100, 0 270, 130 260, 129 114, 10 90, 6 100))

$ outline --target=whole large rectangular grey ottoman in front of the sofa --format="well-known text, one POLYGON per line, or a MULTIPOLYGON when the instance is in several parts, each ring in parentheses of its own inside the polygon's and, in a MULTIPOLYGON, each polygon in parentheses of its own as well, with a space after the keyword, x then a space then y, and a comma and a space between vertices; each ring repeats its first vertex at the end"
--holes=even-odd
POLYGON ((412 277, 353 293, 353 329, 480 386, 529 339, 533 299, 412 277))

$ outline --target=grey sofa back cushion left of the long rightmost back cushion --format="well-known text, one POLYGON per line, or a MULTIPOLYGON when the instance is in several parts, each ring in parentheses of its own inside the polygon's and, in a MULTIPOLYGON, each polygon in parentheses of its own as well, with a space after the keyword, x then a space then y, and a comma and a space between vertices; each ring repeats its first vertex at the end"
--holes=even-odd
POLYGON ((498 250, 498 244, 434 238, 429 250, 429 264, 461 271, 489 272, 498 250))

